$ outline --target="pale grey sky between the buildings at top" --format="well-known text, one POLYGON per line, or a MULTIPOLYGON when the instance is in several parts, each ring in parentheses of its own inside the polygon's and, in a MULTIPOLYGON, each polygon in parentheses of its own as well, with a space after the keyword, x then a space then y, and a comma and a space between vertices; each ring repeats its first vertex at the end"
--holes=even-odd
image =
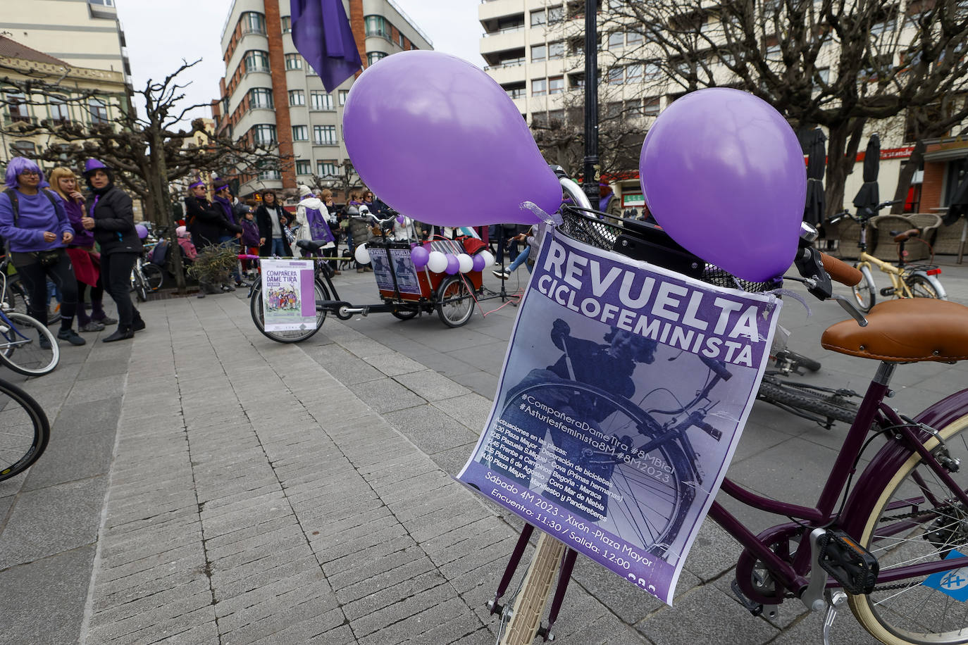
MULTIPOLYGON (((434 43, 434 48, 483 67, 479 53, 479 0, 394 0, 434 43)), ((117 0, 128 43, 135 90, 149 78, 164 79, 182 59, 201 59, 179 77, 192 81, 186 103, 209 103, 218 98, 219 78, 225 75, 220 41, 230 0, 117 0)), ((196 116, 210 116, 209 110, 196 116)))

